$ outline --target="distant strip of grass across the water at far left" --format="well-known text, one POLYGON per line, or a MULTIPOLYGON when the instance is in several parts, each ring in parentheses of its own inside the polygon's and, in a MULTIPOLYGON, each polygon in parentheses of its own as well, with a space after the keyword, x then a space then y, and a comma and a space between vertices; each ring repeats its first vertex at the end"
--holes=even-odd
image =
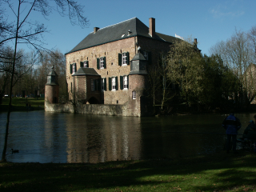
MULTIPOLYGON (((2 98, 2 105, 0 105, 0 112, 8 111, 10 98, 2 98)), ((26 103, 28 106, 30 105, 33 110, 43 110, 44 109, 44 98, 12 98, 12 110, 13 111, 21 111, 28 110, 26 103)))

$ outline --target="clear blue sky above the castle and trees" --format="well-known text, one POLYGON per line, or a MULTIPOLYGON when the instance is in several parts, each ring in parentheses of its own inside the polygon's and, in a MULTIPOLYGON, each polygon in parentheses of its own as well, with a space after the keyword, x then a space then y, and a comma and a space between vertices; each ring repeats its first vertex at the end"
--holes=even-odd
MULTIPOLYGON (((13 0, 12 0, 13 1, 13 0)), ((58 49, 63 54, 72 50, 94 27, 103 28, 138 18, 149 26, 155 18, 155 30, 161 34, 183 38, 197 38, 202 54, 209 55, 210 47, 226 41, 235 30, 248 32, 256 26, 255 0, 78 0, 84 6, 89 26, 72 26, 68 17, 53 12, 45 19, 30 14, 30 20, 42 22, 49 30, 43 41, 47 49, 58 49)), ((12 13, 6 9, 9 19, 12 13)), ((26 49, 22 47, 23 49, 26 49)))

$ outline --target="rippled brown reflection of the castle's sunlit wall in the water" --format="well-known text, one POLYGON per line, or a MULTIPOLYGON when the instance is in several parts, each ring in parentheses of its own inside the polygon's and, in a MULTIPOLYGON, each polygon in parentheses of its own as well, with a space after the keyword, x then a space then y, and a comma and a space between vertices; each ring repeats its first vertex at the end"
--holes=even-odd
POLYGON ((96 163, 140 158, 140 118, 81 115, 75 119, 82 122, 74 121, 73 115, 66 118, 67 162, 96 163))

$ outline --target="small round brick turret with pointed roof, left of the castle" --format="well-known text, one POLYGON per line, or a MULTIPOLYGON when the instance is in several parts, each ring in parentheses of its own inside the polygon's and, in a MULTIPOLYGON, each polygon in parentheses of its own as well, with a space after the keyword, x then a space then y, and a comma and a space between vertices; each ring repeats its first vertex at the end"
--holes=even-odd
POLYGON ((54 66, 52 70, 47 75, 47 83, 45 86, 45 104, 46 103, 58 103, 58 74, 54 71, 54 66))

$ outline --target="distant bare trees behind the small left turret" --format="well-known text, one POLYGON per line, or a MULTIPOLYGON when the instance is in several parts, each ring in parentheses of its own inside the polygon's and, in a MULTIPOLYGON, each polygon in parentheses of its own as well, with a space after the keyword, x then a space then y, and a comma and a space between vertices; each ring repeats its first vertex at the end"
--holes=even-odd
MULTIPOLYGON (((5 58, 0 58, 0 94, 3 96, 10 93, 12 58, 9 56, 14 54, 14 50, 7 46, 1 52, 2 55, 6 55, 5 58)), ((36 54, 34 51, 26 53, 24 50, 19 50, 12 97, 38 97, 40 94, 44 94, 47 74, 52 70, 52 66, 58 74, 60 96, 66 98, 65 55, 59 50, 53 50, 50 53, 41 51, 40 54, 36 54)))

